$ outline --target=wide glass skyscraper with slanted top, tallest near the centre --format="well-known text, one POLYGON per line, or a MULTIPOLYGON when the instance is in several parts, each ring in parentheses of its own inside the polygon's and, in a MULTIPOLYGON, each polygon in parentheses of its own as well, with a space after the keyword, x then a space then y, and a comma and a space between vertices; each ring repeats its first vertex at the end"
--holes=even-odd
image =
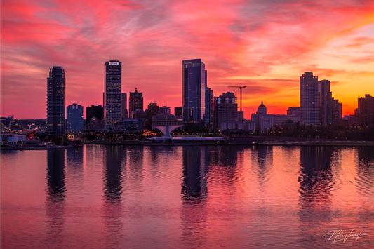
POLYGON ((206 70, 201 59, 182 62, 183 122, 206 125, 206 70))

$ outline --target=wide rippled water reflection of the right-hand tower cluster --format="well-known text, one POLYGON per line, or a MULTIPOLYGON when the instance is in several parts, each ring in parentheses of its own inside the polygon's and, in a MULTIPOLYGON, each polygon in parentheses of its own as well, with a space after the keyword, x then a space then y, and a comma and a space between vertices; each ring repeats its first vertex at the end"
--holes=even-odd
POLYGON ((331 159, 335 151, 334 147, 300 147, 298 216, 305 248, 312 248, 313 245, 308 243, 314 243, 317 237, 319 239, 321 233, 326 233, 323 229, 326 229, 326 225, 333 220, 331 191, 335 183, 333 182, 331 159), (310 231, 318 232, 310 234, 310 231))

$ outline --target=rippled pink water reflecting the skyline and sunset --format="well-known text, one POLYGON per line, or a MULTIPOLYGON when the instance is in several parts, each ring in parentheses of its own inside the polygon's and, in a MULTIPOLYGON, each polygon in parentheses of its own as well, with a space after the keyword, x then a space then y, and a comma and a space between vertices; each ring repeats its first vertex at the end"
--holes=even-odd
POLYGON ((374 149, 2 151, 1 248, 374 248, 374 149))

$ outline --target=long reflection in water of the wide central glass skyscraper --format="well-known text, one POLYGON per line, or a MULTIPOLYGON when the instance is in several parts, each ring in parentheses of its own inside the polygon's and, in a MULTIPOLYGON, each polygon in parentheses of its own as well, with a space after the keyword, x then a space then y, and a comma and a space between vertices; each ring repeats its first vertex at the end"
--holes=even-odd
POLYGON ((206 183, 205 156, 203 149, 182 147, 182 243, 187 248, 199 248, 206 241, 206 183))

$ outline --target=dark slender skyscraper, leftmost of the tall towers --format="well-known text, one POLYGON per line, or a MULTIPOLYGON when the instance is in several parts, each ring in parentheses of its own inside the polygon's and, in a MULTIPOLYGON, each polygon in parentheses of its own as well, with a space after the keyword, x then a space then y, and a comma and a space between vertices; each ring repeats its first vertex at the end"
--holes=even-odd
POLYGON ((49 69, 47 78, 47 131, 50 135, 65 134, 65 69, 49 69))

